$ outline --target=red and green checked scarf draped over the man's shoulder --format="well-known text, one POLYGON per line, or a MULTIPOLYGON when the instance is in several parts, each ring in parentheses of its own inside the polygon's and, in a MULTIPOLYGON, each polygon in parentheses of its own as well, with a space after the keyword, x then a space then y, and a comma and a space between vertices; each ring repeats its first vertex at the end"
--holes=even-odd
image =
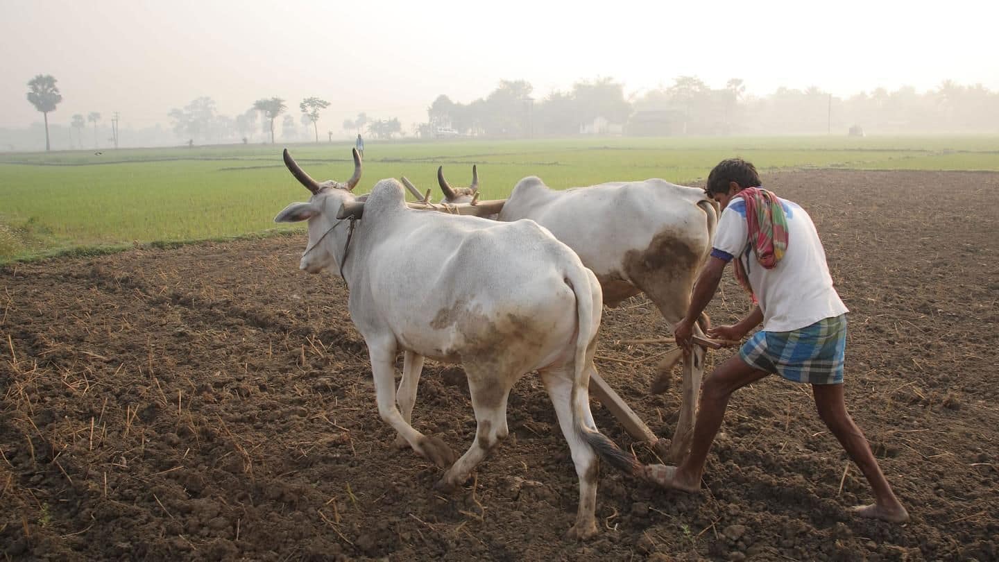
MULTIPOLYGON (((787 216, 773 192, 762 187, 748 187, 735 194, 746 203, 746 225, 749 244, 756 260, 766 269, 773 269, 787 251, 787 216)), ((748 265, 748 264, 747 264, 748 265)), ((756 295, 749 286, 749 272, 742 265, 741 257, 735 260, 735 279, 749 293, 752 302, 756 295)))

